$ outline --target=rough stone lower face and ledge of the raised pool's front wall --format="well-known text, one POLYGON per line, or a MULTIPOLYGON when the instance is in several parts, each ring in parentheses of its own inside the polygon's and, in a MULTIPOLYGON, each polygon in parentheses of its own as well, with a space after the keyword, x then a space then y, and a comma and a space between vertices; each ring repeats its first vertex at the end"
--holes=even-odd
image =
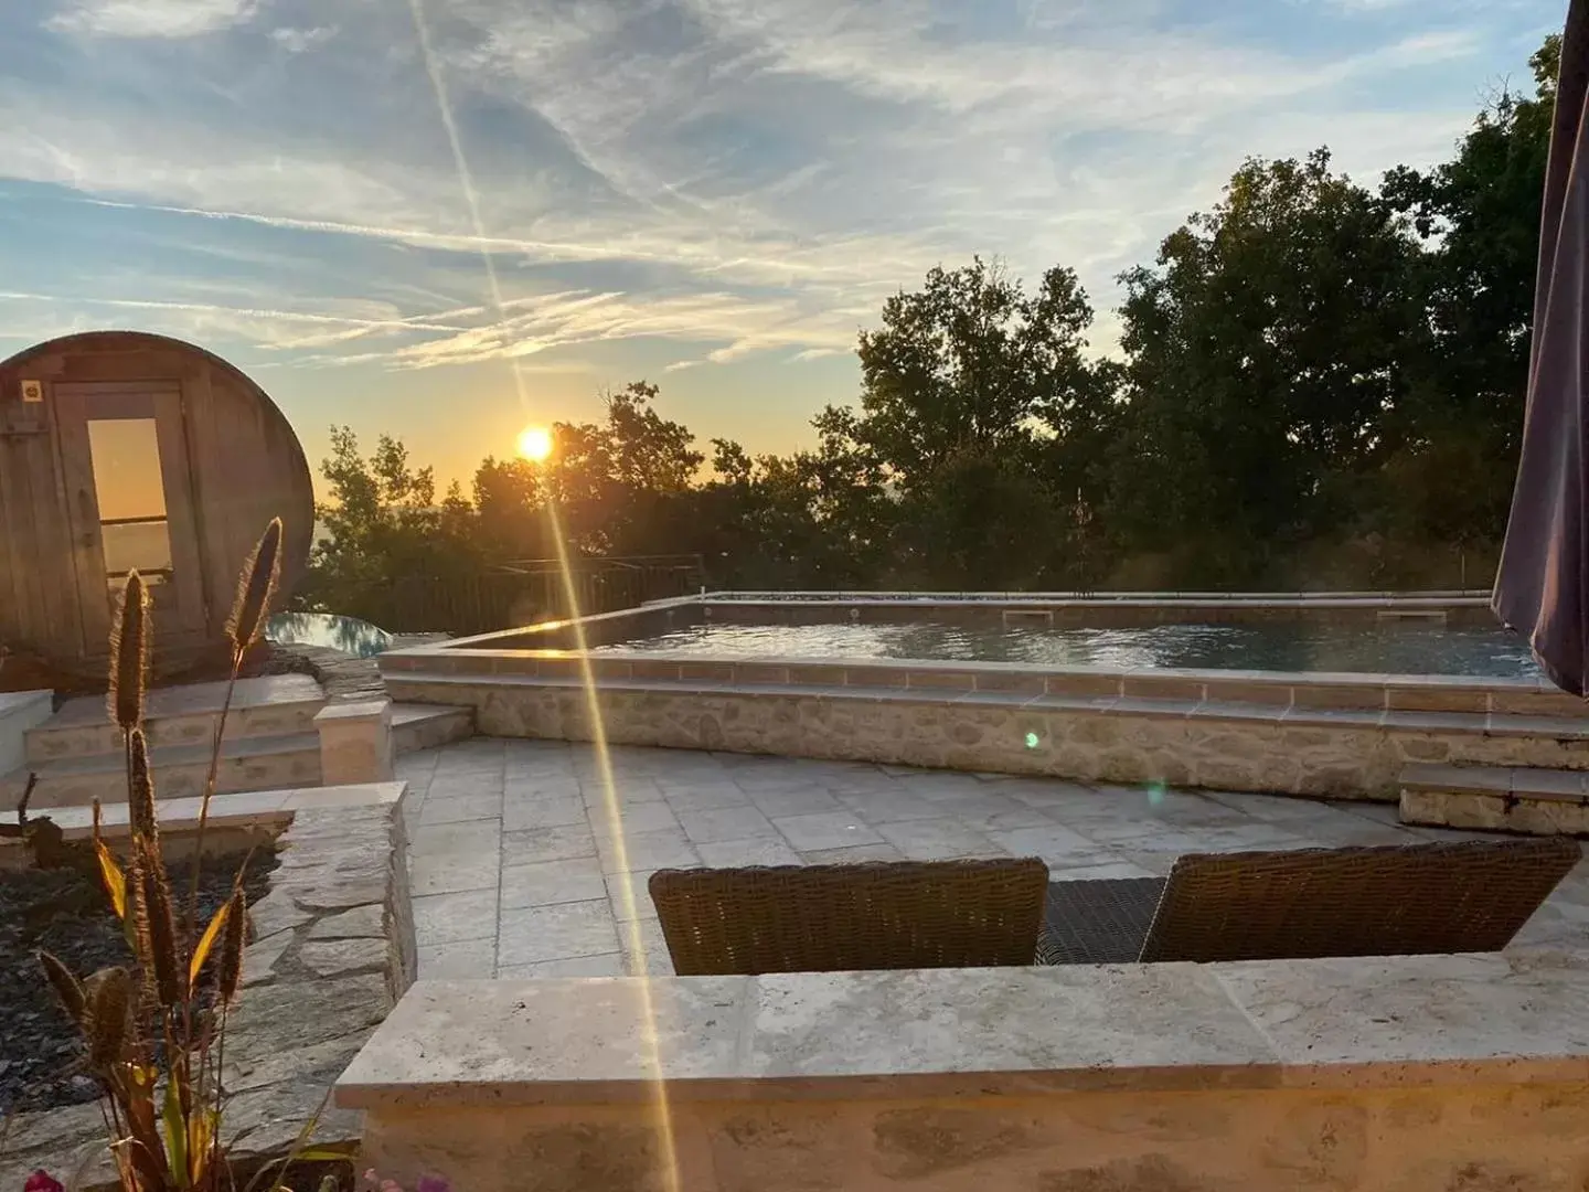
MULTIPOLYGON (((570 680, 389 671, 386 682, 399 699, 474 707, 486 736, 591 739, 588 695, 570 680)), ((1416 761, 1589 769, 1581 717, 1235 702, 1200 699, 1190 685, 1185 695, 602 679, 597 698, 612 744, 1081 782, 1394 801, 1416 761)))

